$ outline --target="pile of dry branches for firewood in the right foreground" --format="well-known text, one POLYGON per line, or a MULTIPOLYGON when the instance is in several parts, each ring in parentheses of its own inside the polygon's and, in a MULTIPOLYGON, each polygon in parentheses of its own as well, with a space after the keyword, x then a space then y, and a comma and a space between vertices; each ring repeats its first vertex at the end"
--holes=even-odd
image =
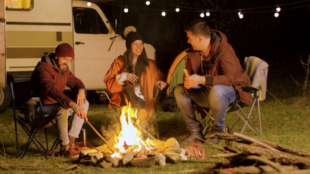
POLYGON ((212 137, 238 144, 234 143, 235 149, 224 146, 225 153, 213 155, 212 158, 225 160, 208 170, 208 174, 310 174, 309 152, 239 133, 216 133, 212 137))

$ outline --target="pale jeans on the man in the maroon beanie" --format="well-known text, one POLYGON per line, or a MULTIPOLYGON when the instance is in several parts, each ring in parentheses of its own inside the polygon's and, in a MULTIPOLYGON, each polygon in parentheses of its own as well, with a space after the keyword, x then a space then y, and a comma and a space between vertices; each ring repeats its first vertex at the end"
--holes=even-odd
MULTIPOLYGON (((81 106, 87 114, 89 108, 89 102, 83 103, 81 106)), ((72 108, 65 109, 60 104, 43 105, 43 108, 37 107, 34 110, 34 116, 30 120, 34 120, 44 113, 49 114, 51 119, 55 118, 56 128, 58 130, 58 136, 61 145, 69 144, 69 135, 78 138, 84 119, 74 114, 72 108), (73 115, 74 114, 74 115, 73 115), (68 132, 68 118, 73 115, 70 131, 68 132)))

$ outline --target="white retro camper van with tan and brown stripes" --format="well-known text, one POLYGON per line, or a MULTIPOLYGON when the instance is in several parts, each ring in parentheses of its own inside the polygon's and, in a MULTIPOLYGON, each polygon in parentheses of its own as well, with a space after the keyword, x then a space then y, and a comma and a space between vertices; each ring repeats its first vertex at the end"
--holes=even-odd
MULTIPOLYGON (((108 1, 108 0, 105 0, 108 1)), ((105 88, 103 77, 126 50, 94 3, 87 0, 0 0, 0 112, 10 103, 8 82, 29 80, 41 56, 61 43, 71 44, 71 71, 87 90, 105 88)), ((155 59, 155 48, 144 45, 155 59)))

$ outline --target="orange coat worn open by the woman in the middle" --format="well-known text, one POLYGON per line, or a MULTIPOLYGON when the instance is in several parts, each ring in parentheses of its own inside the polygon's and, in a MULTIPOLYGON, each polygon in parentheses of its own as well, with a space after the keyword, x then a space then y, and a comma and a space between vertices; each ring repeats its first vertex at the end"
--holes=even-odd
MULTIPOLYGON (((114 62, 110 66, 109 71, 103 78, 103 82, 105 83, 108 91, 112 93, 112 96, 110 98, 111 101, 118 107, 120 107, 120 101, 121 101, 120 92, 122 91, 125 85, 130 84, 129 81, 125 81, 124 85, 120 85, 115 80, 116 75, 126 72, 126 70, 123 70, 121 72, 123 67, 124 67, 123 57, 119 56, 114 60, 114 62)), ((146 73, 142 73, 140 80, 145 99, 145 109, 148 112, 147 121, 149 121, 152 116, 154 105, 156 102, 156 98, 153 97, 154 86, 159 80, 164 80, 164 75, 156 67, 155 62, 149 59, 149 66, 146 68, 146 73)), ((109 108, 111 108, 110 104, 109 108)))

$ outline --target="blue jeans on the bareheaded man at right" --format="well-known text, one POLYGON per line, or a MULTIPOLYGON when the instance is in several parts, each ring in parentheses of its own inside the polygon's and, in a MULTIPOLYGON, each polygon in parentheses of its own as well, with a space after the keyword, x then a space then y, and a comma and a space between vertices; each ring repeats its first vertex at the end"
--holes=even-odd
POLYGON ((224 130, 226 110, 237 97, 232 86, 214 85, 209 88, 198 85, 187 89, 184 84, 175 87, 174 96, 185 122, 192 131, 202 130, 201 123, 196 119, 193 104, 210 109, 214 118, 213 130, 224 130))

